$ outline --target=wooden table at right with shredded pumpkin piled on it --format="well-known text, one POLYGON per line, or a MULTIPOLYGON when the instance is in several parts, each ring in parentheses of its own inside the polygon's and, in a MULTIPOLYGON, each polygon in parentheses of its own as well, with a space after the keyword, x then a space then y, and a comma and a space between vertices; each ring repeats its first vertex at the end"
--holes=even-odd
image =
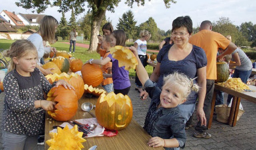
MULTIPOLYGON (((256 91, 256 86, 249 85, 249 87, 251 90, 256 91)), ((241 98, 248 100, 250 102, 256 103, 256 92, 243 92, 243 91, 231 90, 230 88, 226 88, 220 84, 215 83, 208 129, 210 129, 212 126, 212 118, 213 118, 213 112, 214 112, 214 106, 215 106, 215 100, 216 100, 216 94, 217 94, 216 90, 220 90, 234 96, 232 100, 231 109, 230 109, 230 115, 228 118, 228 124, 230 126, 236 126, 236 119, 238 115, 241 98)))

